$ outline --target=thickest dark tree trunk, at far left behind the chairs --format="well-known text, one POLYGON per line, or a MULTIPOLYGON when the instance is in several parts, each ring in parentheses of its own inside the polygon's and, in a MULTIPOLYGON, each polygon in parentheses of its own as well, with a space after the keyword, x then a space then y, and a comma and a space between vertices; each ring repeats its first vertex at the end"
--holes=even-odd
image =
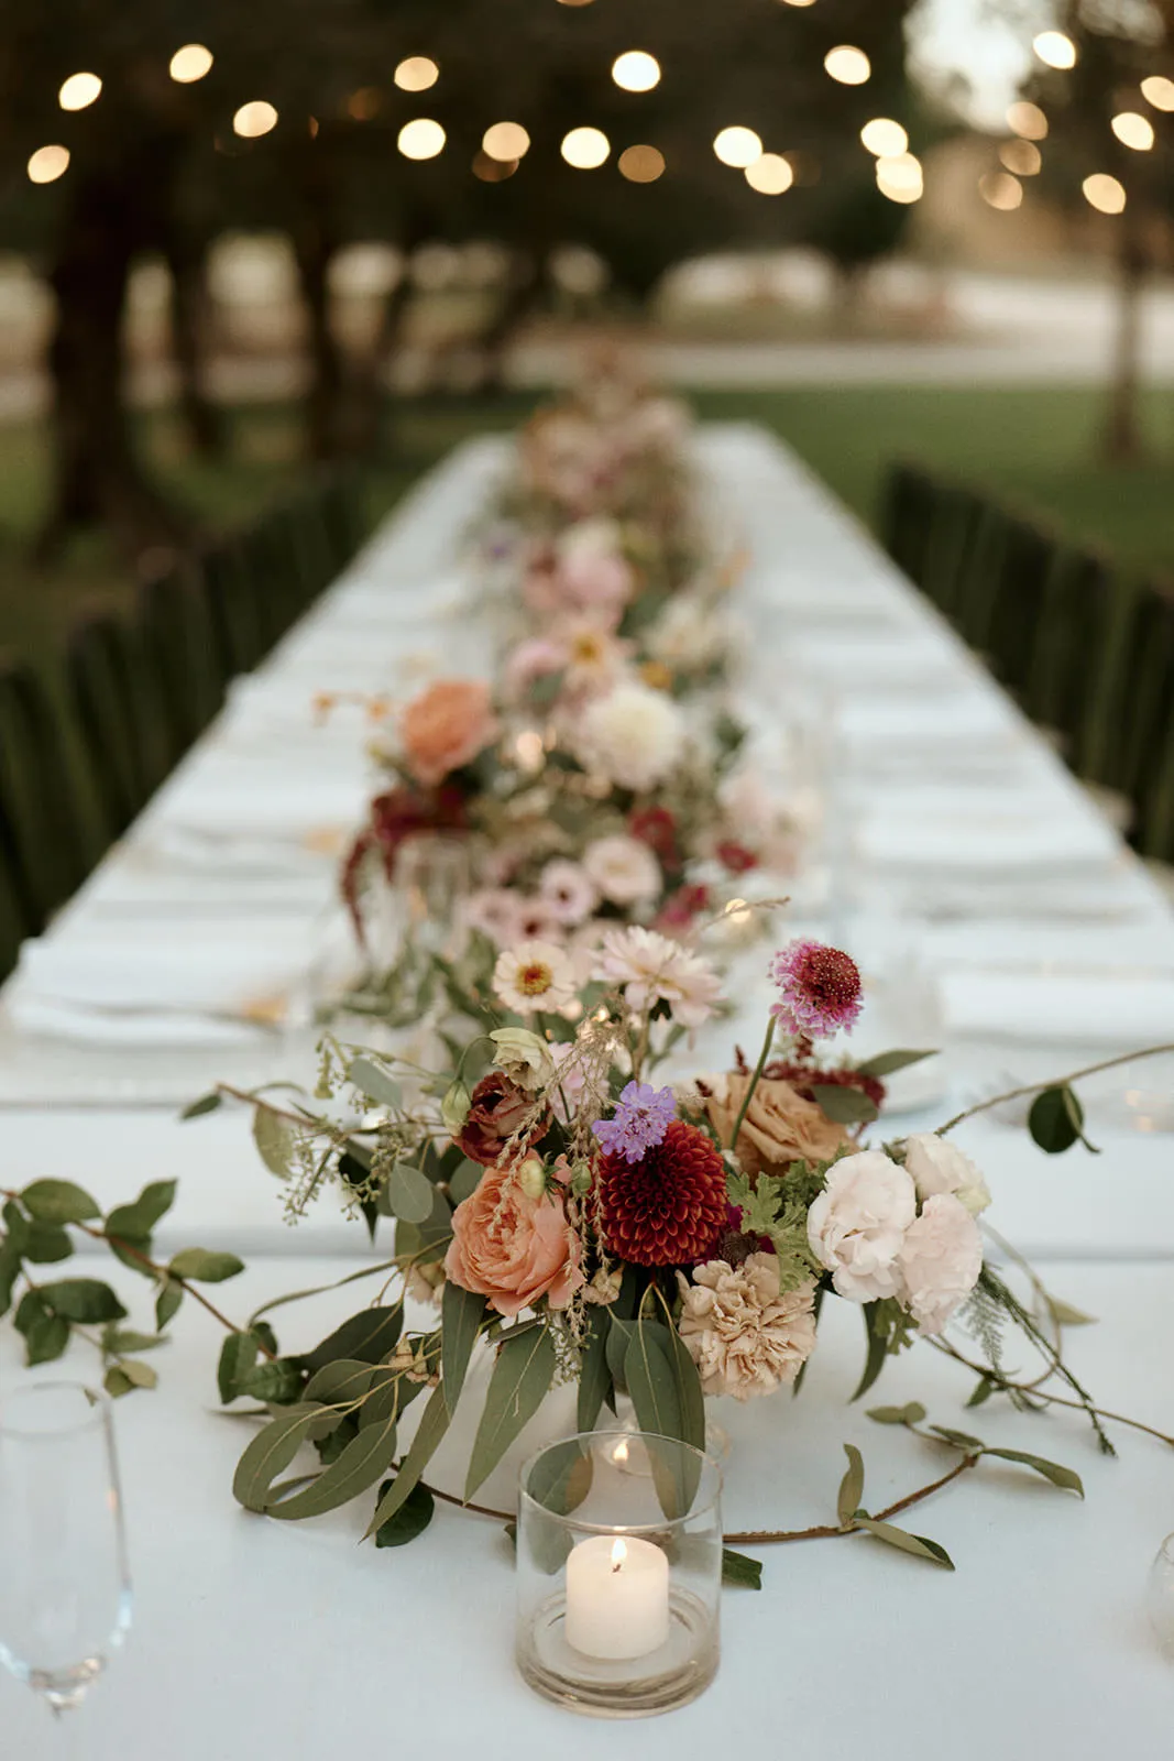
POLYGON ((69 537, 106 527, 130 555, 183 537, 180 514, 148 481, 125 405, 123 317, 136 252, 151 238, 151 203, 165 201, 171 155, 139 143, 116 164, 79 166, 49 282, 56 319, 48 365, 53 379, 53 490, 33 555, 46 564, 69 537), (139 199, 146 171, 151 201, 139 199))

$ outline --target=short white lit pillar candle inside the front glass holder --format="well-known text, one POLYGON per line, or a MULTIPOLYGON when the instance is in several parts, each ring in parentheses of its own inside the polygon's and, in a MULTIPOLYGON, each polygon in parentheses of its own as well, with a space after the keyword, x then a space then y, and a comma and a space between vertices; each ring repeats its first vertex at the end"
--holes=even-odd
POLYGON ((669 1560, 651 1541, 591 1536, 567 1560, 567 1643, 586 1657, 646 1657, 669 1638, 669 1560))

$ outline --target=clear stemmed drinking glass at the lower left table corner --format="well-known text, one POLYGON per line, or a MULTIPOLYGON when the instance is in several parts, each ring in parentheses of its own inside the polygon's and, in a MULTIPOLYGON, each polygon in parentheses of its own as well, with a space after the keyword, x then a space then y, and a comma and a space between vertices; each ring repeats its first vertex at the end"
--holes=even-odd
POLYGON ((62 1713, 128 1627, 111 1404, 81 1382, 11 1389, 0 1400, 0 1662, 62 1713))

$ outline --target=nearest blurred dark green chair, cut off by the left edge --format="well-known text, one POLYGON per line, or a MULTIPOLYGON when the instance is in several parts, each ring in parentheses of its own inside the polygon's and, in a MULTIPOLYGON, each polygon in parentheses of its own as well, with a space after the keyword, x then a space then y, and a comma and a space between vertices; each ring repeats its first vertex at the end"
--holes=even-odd
POLYGON ((81 812, 63 715, 23 662, 0 666, 4 891, 23 933, 39 935, 88 875, 97 851, 81 812))

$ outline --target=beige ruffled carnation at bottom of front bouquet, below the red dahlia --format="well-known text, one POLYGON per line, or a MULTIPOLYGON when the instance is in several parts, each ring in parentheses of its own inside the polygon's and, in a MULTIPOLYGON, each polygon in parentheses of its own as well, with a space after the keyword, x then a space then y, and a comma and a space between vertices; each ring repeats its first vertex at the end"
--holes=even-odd
POLYGON ((679 1333, 706 1395, 750 1400, 794 1382, 815 1345, 815 1280, 780 1296, 774 1254, 711 1259, 683 1277, 679 1333))

